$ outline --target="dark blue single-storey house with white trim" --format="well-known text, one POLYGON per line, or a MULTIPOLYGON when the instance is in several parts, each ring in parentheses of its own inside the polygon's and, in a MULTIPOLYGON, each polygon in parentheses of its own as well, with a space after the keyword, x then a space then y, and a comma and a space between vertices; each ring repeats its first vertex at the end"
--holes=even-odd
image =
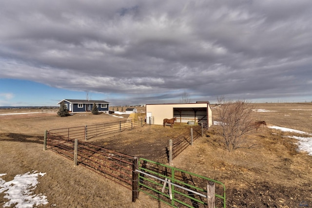
POLYGON ((71 113, 89 112, 92 110, 94 103, 97 105, 98 112, 103 112, 103 113, 109 112, 110 103, 104 100, 63 99, 58 102, 58 105, 60 105, 62 102, 64 102, 66 108, 71 113))

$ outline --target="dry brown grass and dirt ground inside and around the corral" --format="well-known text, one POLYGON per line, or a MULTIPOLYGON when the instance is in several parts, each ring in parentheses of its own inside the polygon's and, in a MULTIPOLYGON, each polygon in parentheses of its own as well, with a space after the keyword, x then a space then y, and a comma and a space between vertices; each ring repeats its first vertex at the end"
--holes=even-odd
MULTIPOLYGON (((312 103, 264 103, 255 106, 256 109, 266 110, 254 112, 255 119, 265 120, 268 126, 311 133, 312 103)), ((214 111, 215 106, 211 107, 214 111)), ((50 204, 47 207, 52 204, 57 207, 100 207, 101 203, 104 203, 103 207, 166 207, 144 194, 139 195, 138 202, 131 203, 128 189, 116 189, 118 186, 102 176, 83 167, 74 168, 71 161, 52 151, 42 151, 45 129, 92 125, 118 119, 126 119, 126 116, 117 118, 91 113, 78 113, 64 118, 55 114, 0 115, 0 173, 9 173, 7 177, 12 178, 26 170, 47 172, 47 177, 40 179, 36 189, 48 196, 50 204), (95 184, 94 181, 99 183, 95 184), (119 196, 112 194, 114 191, 110 188, 117 191, 119 196)), ((229 208, 312 207, 312 156, 297 151, 297 140, 287 137, 297 134, 268 126, 262 126, 248 136, 249 141, 256 144, 255 148, 234 152, 224 149, 219 127, 213 126, 205 132, 204 137, 195 140, 193 146, 179 154, 173 160, 173 165, 224 183, 229 208)), ((169 139, 186 127, 183 124, 175 124, 174 129, 145 125, 88 142, 166 163, 165 147, 169 139)), ((0 206, 1 197, 3 194, 0 194, 0 206)))

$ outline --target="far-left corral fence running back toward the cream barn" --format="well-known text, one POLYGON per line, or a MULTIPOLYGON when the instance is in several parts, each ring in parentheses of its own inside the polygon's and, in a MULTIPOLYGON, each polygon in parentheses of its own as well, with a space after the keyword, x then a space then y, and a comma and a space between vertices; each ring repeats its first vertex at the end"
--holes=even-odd
POLYGON ((154 124, 154 116, 148 117, 145 122, 144 119, 134 119, 133 121, 117 121, 111 123, 85 125, 79 127, 54 129, 48 132, 49 137, 62 137, 63 139, 78 139, 85 141, 91 138, 97 138, 104 135, 123 132, 125 130, 132 130, 137 127, 143 127, 145 124, 154 124))

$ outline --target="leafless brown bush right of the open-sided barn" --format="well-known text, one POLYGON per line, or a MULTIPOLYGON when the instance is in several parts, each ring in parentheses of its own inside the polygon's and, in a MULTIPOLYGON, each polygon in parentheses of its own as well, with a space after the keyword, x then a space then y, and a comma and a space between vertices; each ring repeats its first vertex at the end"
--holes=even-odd
POLYGON ((221 135, 227 150, 254 147, 255 144, 249 143, 247 139, 247 134, 254 129, 253 105, 245 100, 226 101, 224 97, 218 97, 217 100, 221 135))

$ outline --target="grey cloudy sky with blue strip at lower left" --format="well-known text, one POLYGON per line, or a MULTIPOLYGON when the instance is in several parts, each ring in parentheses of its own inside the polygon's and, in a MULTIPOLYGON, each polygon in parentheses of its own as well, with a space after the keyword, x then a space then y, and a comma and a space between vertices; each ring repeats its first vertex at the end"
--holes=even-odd
POLYGON ((1 0, 0 106, 312 101, 311 0, 1 0))

